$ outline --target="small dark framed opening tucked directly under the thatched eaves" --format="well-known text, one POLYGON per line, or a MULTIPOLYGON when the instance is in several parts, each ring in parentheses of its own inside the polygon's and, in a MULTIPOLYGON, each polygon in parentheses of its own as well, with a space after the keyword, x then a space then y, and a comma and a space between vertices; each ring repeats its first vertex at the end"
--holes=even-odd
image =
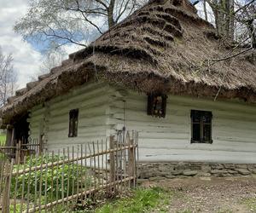
POLYGON ((148 95, 148 115, 165 118, 166 99, 167 95, 148 95))

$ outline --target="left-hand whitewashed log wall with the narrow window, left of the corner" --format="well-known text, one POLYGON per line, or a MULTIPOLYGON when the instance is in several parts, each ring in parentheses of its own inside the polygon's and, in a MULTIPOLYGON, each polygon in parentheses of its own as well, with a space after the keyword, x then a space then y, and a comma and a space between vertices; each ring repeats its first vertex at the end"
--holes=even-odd
POLYGON ((45 148, 55 151, 97 140, 105 140, 108 117, 109 86, 90 83, 71 90, 43 105, 32 108, 30 118, 31 138, 44 134, 45 148), (79 108, 78 137, 68 137, 69 111, 79 108))

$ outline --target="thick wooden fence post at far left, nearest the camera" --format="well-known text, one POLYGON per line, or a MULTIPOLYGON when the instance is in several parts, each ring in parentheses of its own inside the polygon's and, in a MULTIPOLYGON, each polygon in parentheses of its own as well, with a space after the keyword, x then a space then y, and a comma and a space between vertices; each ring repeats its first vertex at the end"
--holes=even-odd
POLYGON ((3 186, 3 200, 2 200, 2 212, 9 213, 9 193, 10 193, 10 184, 11 184, 11 174, 13 169, 13 160, 11 164, 6 162, 5 164, 5 180, 3 186))

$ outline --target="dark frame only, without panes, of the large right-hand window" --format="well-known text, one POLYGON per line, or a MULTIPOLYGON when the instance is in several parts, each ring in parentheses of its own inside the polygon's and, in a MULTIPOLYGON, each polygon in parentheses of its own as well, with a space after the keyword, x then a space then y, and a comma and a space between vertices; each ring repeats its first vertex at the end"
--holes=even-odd
POLYGON ((212 144, 212 112, 211 111, 203 111, 203 110, 191 110, 190 111, 190 120, 191 120, 191 143, 204 143, 204 144, 212 144), (200 117, 199 122, 195 122, 195 115, 200 117), (203 117, 207 116, 210 118, 210 122, 204 122, 203 117), (199 124, 200 126, 200 141, 194 140, 194 124, 199 124), (204 128, 206 125, 210 125, 210 140, 204 140, 204 128))

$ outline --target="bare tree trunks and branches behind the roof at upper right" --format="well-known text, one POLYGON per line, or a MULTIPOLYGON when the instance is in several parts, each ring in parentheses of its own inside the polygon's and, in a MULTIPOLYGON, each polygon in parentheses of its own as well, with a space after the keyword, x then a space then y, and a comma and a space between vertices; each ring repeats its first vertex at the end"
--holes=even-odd
MULTIPOLYGON (((252 43, 255 47, 255 0, 201 0, 204 17, 207 20, 207 5, 212 9, 216 32, 222 41, 252 43), (253 42, 254 41, 254 42, 253 42)), ((197 3, 197 2, 196 2, 197 3)))

